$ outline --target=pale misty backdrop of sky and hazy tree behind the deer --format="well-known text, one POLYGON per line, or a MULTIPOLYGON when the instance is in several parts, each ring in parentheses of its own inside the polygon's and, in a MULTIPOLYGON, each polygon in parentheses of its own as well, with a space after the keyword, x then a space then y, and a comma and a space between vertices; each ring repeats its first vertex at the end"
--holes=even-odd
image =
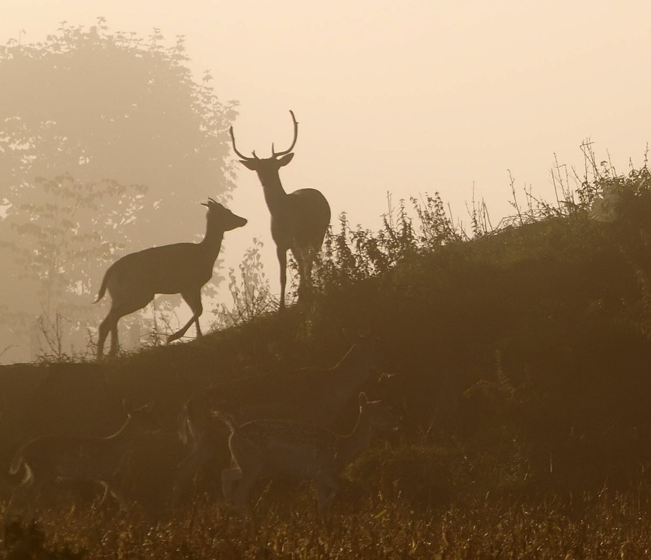
MULTIPOLYGON (((231 124, 240 151, 266 157, 291 141, 294 110, 283 185, 321 190, 334 228, 342 211, 378 228, 388 193, 395 204, 434 192, 466 224, 484 200, 497 225, 513 213, 512 187, 553 200, 557 163, 581 176, 585 139, 619 172, 629 158, 639 166, 650 12, 606 1, 4 1, 0 363, 52 344, 83 351, 109 306, 90 305, 104 270, 198 241, 207 197, 249 220, 224 239, 214 279, 259 239, 277 293, 268 210, 233 158, 231 124)), ((165 302, 172 314, 179 300, 165 302)), ((205 300, 202 323, 211 309, 205 300)), ((121 321, 127 347, 146 337, 137 323, 121 321)))

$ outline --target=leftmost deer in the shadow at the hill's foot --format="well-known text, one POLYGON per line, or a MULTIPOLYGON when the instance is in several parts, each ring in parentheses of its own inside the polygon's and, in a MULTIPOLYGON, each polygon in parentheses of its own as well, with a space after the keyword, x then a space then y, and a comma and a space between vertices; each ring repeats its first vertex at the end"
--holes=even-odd
POLYGON ((109 437, 46 435, 20 447, 11 461, 9 472, 15 475, 22 467, 25 475, 11 494, 5 519, 18 498, 57 479, 97 482, 104 487, 100 504, 110 493, 118 500, 121 509, 126 509, 126 502, 116 487, 119 470, 132 441, 139 435, 158 432, 160 425, 151 415, 151 405, 139 409, 129 409, 125 405, 125 410, 127 420, 109 437))

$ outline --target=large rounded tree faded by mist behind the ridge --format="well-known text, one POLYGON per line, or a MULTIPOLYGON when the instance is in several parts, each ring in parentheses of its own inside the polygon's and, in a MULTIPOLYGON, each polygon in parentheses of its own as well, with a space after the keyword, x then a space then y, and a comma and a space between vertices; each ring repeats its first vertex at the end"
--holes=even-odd
POLYGON ((233 188, 235 103, 188 60, 183 37, 165 47, 103 18, 0 48, 0 359, 34 325, 69 348, 62 330, 97 325, 109 262, 202 235, 197 203, 233 188))

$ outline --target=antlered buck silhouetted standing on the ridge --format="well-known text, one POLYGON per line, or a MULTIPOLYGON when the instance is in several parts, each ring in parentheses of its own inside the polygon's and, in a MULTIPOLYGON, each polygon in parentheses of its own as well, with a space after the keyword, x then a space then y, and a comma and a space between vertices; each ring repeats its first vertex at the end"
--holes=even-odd
POLYGON ((271 214, 271 237, 276 244, 276 255, 280 264, 280 309, 285 308, 285 284, 287 283, 287 250, 299 266, 299 300, 309 295, 312 289, 312 266, 323 244, 323 238, 330 224, 330 206, 320 191, 301 188, 285 193, 278 171, 294 158, 291 153, 299 134, 299 123, 294 112, 294 141, 285 151, 276 153, 271 144, 271 157, 259 158, 242 155, 235 148, 235 136, 231 127, 233 151, 241 158, 240 163, 258 174, 262 184, 264 200, 271 214))

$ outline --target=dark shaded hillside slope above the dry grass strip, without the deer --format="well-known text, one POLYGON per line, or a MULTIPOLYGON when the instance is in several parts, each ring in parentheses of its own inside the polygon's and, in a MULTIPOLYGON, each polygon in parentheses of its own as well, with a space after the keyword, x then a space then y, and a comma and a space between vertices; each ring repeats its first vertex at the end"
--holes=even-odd
POLYGON ((334 365, 350 333, 370 330, 396 375, 368 390, 404 407, 406 425, 397 447, 351 471, 359 484, 435 502, 462 487, 544 492, 644 479, 651 205, 647 191, 635 196, 612 223, 577 209, 411 251, 381 274, 332 276, 309 310, 192 342, 102 363, 1 367, 0 465, 29 437, 105 435, 120 425, 123 399, 153 402, 164 430, 132 456, 132 489, 161 507, 184 456, 177 414, 190 395, 256 372, 334 365))

